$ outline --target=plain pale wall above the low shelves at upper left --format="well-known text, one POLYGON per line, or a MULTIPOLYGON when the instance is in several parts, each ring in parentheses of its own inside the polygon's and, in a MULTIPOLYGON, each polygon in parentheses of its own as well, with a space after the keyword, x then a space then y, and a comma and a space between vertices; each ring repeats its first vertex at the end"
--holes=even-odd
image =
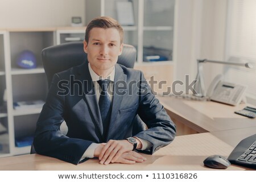
POLYGON ((0 0, 0 28, 70 26, 85 21, 85 0, 0 0))

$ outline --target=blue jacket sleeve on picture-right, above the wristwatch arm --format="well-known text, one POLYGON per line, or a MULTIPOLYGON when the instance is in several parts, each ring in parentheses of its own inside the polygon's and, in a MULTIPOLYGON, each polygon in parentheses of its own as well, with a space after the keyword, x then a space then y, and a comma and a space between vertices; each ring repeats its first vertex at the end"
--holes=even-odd
POLYGON ((148 129, 138 133, 135 137, 152 143, 152 148, 149 151, 150 154, 153 154, 174 140, 176 126, 159 100, 152 94, 143 73, 141 73, 139 84, 138 115, 146 123, 148 129))

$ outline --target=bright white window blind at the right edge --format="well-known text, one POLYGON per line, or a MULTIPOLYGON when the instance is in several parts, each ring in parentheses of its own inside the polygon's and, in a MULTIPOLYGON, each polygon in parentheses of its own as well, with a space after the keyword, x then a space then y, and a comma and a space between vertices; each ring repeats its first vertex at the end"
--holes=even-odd
POLYGON ((229 0, 226 60, 248 62, 253 69, 229 67, 225 80, 247 85, 246 96, 256 98, 256 1, 229 0))

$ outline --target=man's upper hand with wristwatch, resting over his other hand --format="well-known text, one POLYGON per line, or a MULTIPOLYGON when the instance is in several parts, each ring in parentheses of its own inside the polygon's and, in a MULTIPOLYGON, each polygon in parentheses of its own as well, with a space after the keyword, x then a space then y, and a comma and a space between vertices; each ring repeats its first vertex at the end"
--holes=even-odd
MULTIPOLYGON (((128 151, 133 150, 133 144, 128 142, 127 140, 109 140, 108 143, 105 144, 105 146, 102 147, 102 150, 100 152, 100 155, 98 156, 98 159, 100 160, 101 164, 109 164, 117 162, 119 157, 128 151)), ((129 155, 129 159, 131 159, 132 156, 129 155)), ((129 159, 123 159, 123 160, 129 160, 129 159)), ((123 162, 122 160, 122 162, 123 162)))

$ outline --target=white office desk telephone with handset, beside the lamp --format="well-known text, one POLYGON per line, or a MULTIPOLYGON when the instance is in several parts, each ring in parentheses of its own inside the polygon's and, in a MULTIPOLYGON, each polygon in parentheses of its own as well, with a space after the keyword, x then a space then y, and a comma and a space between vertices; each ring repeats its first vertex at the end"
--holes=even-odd
POLYGON ((217 75, 207 90, 207 97, 212 101, 229 105, 238 105, 244 97, 246 86, 222 81, 222 75, 217 75))

